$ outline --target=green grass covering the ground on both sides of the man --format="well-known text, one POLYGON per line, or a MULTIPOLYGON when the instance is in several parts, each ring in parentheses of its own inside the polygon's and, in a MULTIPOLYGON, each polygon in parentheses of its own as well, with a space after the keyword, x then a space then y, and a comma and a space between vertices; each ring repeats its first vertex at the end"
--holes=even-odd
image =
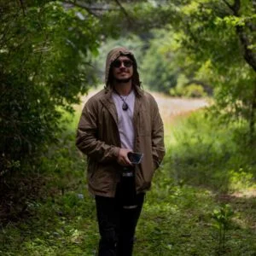
MULTIPOLYGON (((1 255, 96 254, 96 209, 73 128, 43 160, 50 177, 44 197, 27 202, 26 218, 1 226, 1 255)), ((253 150, 236 142, 234 126, 221 128, 200 112, 168 126, 166 158, 146 196, 134 256, 256 255, 253 150)))

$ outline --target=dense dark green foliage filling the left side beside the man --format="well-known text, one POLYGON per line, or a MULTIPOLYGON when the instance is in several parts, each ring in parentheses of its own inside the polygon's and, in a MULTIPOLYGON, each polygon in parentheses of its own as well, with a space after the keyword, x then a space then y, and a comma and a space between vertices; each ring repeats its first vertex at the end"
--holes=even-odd
MULTIPOLYGON (((101 38, 98 20, 83 9, 65 8, 55 1, 21 3, 2 1, 0 9, 0 198, 4 214, 15 212, 15 205, 26 211, 26 197, 37 196, 44 183, 43 177, 38 182, 41 160, 49 144, 59 143, 62 113, 72 113, 79 95, 96 84, 90 60, 101 38)), ((60 154, 63 160, 65 152, 60 154)))

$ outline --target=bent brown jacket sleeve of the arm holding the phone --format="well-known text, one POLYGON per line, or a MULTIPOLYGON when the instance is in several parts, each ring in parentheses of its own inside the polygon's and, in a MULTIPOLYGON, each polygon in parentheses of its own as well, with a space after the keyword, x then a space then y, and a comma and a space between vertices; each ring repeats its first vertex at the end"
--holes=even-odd
POLYGON ((86 102, 77 130, 76 145, 81 152, 99 162, 116 160, 119 148, 97 138, 98 113, 94 102, 86 102))

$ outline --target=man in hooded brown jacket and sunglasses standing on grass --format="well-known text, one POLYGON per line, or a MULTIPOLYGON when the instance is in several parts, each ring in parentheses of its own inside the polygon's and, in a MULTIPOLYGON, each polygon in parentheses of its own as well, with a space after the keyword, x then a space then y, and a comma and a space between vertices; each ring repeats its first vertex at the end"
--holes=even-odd
POLYGON ((153 96, 140 86, 130 50, 118 47, 108 53, 105 82, 84 106, 76 144, 88 156, 88 188, 95 195, 101 235, 99 255, 125 256, 132 253, 144 195, 165 154, 164 131, 153 96), (133 165, 129 152, 143 154, 141 163, 133 165), (132 170, 136 183, 136 206, 131 208, 124 207, 120 192, 125 168, 132 170))

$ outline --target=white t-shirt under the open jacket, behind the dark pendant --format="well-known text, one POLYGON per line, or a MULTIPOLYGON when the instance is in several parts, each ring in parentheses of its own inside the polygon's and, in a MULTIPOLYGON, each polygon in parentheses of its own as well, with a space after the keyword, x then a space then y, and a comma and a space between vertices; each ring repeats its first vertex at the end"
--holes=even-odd
POLYGON ((135 102, 134 90, 131 90, 128 96, 121 97, 125 100, 128 105, 127 110, 123 110, 124 102, 120 96, 113 92, 112 98, 118 113, 118 128, 121 139, 122 148, 134 149, 134 127, 133 127, 133 109, 135 102))

